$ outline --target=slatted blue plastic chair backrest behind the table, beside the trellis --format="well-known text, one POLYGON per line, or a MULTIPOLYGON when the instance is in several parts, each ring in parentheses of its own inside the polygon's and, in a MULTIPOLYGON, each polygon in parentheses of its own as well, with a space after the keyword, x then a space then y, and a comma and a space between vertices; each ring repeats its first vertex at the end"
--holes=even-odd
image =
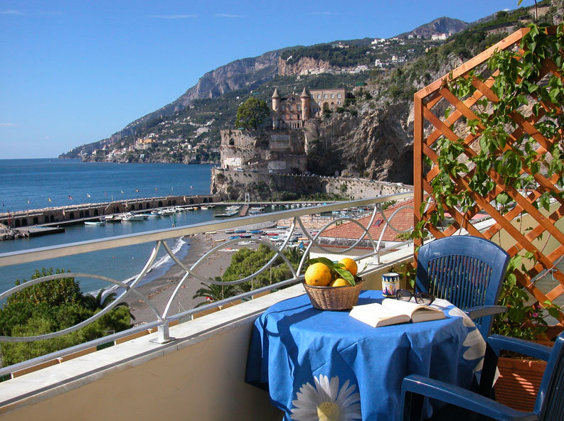
MULTIPOLYGON (((449 300, 461 310, 496 305, 509 255, 491 241, 474 236, 449 236, 420 247, 415 289, 449 300)), ((474 319, 485 338, 491 316, 474 319)))

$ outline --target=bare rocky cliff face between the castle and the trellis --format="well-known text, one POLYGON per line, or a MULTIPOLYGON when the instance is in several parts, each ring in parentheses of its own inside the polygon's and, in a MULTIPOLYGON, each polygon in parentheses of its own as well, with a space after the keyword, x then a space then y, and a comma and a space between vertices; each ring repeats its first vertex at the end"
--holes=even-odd
MULTIPOLYGON (((429 78, 438 79, 461 64, 461 58, 450 55, 428 69, 429 78)), ((307 126, 309 171, 413 185, 413 97, 394 96, 392 84, 390 76, 358 87, 356 104, 307 126)), ((410 88, 415 92, 425 84, 415 80, 410 88)))

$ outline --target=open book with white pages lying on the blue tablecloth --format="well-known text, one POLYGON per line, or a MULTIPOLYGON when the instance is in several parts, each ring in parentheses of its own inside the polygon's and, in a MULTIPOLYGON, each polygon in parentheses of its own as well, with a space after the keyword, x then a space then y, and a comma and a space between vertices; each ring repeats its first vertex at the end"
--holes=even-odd
POLYGON ((427 320, 444 319, 445 313, 430 305, 417 304, 416 302, 400 301, 385 298, 382 304, 356 305, 350 313, 355 319, 372 327, 388 326, 412 322, 426 322, 427 320))

